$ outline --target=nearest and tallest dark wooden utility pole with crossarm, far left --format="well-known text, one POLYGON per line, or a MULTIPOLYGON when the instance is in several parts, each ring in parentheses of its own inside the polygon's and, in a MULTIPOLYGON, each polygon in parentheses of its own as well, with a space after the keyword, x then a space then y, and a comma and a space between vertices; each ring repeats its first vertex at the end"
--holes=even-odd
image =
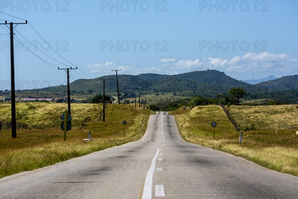
MULTIPOLYGON (((6 25, 5 23, 0 23, 0 25, 6 25)), ((15 83, 14 83, 14 51, 13 51, 13 24, 27 24, 27 20, 25 23, 9 23, 10 29, 10 84, 11 84, 11 137, 16 137, 16 114, 15 114, 15 83)))

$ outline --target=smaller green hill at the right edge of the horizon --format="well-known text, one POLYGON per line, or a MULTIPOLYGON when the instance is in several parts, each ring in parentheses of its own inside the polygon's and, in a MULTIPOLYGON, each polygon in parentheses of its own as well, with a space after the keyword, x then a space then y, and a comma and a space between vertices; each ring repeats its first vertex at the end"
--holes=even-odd
POLYGON ((277 91, 298 89, 298 75, 284 76, 276 80, 256 84, 256 86, 277 91))

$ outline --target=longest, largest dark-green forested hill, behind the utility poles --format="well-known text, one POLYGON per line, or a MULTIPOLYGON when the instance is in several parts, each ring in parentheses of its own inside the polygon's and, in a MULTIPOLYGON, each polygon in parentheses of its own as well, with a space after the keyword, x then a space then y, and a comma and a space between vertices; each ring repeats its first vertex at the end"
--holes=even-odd
MULTIPOLYGON (((110 79, 106 81, 107 92, 117 92, 116 76, 103 76, 96 79, 80 79, 71 83, 70 87, 73 93, 86 93, 89 90, 93 92, 102 90, 102 81, 100 79, 110 79)), ((194 71, 179 75, 159 75, 159 74, 141 74, 141 75, 119 75, 119 91, 134 92, 142 91, 146 94, 158 92, 177 92, 177 91, 200 91, 201 95, 214 96, 224 91, 227 92, 230 87, 246 86, 236 79, 226 76, 223 72, 216 70, 194 71), (209 91, 208 91, 208 90, 209 91), (218 90, 218 91, 217 91, 218 90)), ((66 86, 49 87, 39 91, 66 91, 66 86)))

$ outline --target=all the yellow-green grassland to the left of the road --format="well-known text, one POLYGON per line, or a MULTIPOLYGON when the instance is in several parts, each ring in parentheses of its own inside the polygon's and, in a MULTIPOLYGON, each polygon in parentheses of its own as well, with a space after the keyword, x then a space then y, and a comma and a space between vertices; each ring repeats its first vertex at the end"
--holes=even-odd
MULTIPOLYGON (((60 116, 66 103, 23 102, 16 108, 23 114, 17 122, 34 123, 43 129, 17 129, 16 138, 11 138, 10 130, 0 131, 0 178, 136 141, 144 135, 149 115, 154 114, 131 105, 107 104, 103 122, 99 120, 102 104, 72 104, 72 130, 64 142, 60 116), (90 120, 83 122, 86 117, 90 120), (123 120, 127 121, 125 136, 123 120), (84 142, 89 130, 92 140, 84 142)), ((9 115, 10 104, 0 103, 0 121, 9 121, 9 115)))

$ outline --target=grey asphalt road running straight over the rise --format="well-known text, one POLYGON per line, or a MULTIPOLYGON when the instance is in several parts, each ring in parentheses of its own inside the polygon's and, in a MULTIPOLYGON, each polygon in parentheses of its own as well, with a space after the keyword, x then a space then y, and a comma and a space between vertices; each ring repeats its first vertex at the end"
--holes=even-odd
POLYGON ((2 178, 0 198, 298 199, 298 177, 187 143, 157 112, 139 141, 2 178))

